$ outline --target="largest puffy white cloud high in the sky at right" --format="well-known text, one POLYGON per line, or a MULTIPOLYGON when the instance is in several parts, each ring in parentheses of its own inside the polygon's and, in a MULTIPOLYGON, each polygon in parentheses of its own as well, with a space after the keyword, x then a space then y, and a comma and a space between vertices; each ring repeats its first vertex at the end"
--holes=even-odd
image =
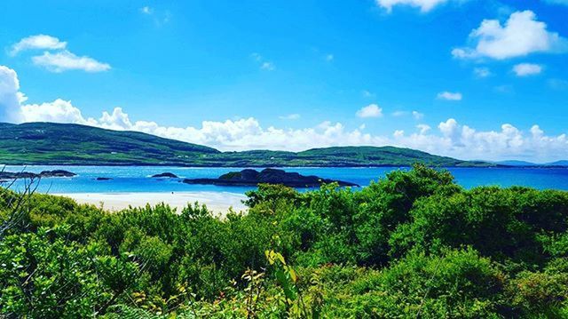
POLYGON ((454 49, 455 58, 505 60, 534 52, 564 52, 568 49, 568 41, 556 32, 549 32, 546 23, 536 20, 534 12, 529 10, 513 12, 504 26, 499 20, 483 20, 469 38, 477 44, 454 49))

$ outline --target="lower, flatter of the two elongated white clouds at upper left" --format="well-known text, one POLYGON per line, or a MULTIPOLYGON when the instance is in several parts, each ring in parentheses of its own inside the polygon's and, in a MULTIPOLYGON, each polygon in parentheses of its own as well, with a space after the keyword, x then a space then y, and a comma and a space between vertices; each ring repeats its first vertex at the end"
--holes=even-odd
POLYGON ((63 72, 67 70, 83 70, 85 72, 104 72, 110 69, 110 65, 99 62, 90 57, 78 57, 67 50, 51 53, 43 52, 32 58, 36 66, 47 68, 51 72, 63 72))

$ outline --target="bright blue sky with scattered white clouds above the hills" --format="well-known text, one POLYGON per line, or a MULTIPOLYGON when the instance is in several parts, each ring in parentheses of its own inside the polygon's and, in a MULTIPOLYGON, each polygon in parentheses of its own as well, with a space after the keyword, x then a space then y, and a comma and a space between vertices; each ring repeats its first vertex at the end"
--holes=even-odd
POLYGON ((564 0, 4 0, 0 66, 19 85, 0 108, 221 149, 556 160, 567 16, 564 0))

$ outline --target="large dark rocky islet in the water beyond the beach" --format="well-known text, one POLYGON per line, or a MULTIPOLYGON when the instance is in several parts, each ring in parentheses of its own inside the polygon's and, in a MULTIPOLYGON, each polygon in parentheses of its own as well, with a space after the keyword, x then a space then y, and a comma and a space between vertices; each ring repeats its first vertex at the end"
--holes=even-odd
POLYGON ((305 176, 297 172, 288 172, 267 168, 262 171, 231 171, 217 179, 184 179, 185 184, 206 184, 217 186, 256 186, 258 184, 281 184, 288 187, 319 187, 321 184, 337 183, 339 186, 359 187, 355 183, 335 179, 322 179, 318 176, 305 176))

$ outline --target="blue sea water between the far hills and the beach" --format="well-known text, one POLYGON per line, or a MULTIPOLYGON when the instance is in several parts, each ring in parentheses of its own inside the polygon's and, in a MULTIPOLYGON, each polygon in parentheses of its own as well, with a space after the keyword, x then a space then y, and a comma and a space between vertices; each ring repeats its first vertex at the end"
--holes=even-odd
MULTIPOLYGON (((67 170, 77 176, 73 178, 42 179, 38 191, 42 193, 122 193, 122 192, 231 192, 243 194, 254 187, 218 187, 212 185, 187 185, 177 179, 151 179, 151 175, 170 171, 180 178, 216 178, 228 171, 239 171, 240 168, 187 168, 187 167, 154 167, 154 166, 7 166, 6 171, 67 170), (112 180, 98 181, 98 177, 112 180)), ((285 168, 286 171, 297 171, 304 175, 317 175, 327 179, 341 179, 366 186, 371 180, 381 179, 386 173, 399 168, 285 168)), ((403 168, 406 170, 406 168, 403 168)), ((568 190, 568 169, 543 168, 450 168, 456 181, 463 187, 497 185, 509 187, 514 185, 535 187, 540 189, 556 188, 568 190)), ((15 185, 21 189, 21 184, 15 185)))

